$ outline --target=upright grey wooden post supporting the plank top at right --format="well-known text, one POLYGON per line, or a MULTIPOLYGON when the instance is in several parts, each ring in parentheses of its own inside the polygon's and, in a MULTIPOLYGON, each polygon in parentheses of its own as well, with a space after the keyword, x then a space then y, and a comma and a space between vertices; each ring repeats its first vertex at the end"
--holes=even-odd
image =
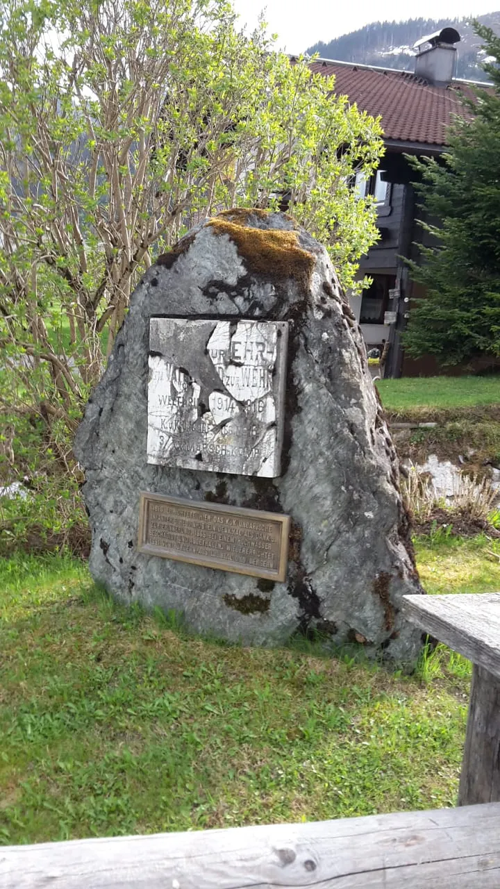
POLYGON ((500 800, 500 680, 474 665, 458 805, 500 800))

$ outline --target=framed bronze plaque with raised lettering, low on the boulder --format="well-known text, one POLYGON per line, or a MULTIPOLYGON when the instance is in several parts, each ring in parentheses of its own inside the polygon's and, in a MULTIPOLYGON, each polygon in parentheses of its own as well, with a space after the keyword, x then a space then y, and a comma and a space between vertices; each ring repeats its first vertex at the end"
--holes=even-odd
POLYGON ((139 550, 284 581, 289 516, 141 493, 139 550))

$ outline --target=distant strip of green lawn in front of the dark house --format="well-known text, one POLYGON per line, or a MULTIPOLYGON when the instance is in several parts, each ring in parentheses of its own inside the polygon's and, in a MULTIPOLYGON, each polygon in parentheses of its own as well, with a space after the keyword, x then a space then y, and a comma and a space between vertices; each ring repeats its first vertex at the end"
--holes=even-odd
POLYGON ((404 413, 414 408, 438 409, 500 404, 500 375, 488 377, 403 377, 377 380, 383 406, 404 413))

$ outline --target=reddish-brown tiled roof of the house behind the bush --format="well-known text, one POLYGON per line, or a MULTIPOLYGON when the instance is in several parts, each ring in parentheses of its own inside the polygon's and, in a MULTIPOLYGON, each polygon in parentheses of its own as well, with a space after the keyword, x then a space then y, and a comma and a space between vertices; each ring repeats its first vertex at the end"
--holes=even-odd
POLYGON ((385 138, 430 146, 446 145, 452 115, 464 115, 460 95, 467 84, 431 86, 409 71, 359 68, 335 61, 314 61, 313 71, 335 75, 335 92, 373 116, 382 116, 385 138))

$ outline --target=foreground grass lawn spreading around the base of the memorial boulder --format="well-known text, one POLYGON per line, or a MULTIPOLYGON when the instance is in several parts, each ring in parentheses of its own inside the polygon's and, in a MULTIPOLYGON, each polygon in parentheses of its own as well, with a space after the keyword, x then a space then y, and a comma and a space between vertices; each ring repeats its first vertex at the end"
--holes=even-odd
MULTIPOLYGON (((500 589, 486 538, 418 544, 431 592, 500 589)), ((454 805, 470 665, 188 637, 85 565, 0 560, 0 842, 454 805)))

